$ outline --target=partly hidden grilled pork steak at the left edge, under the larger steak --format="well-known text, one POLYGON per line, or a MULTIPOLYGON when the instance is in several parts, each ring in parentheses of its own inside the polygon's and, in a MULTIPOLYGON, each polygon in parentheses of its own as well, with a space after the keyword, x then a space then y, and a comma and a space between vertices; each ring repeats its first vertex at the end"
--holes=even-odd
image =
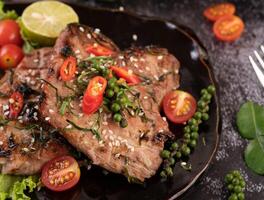
POLYGON ((40 86, 36 78, 47 74, 44 67, 50 52, 51 49, 43 48, 26 55, 13 73, 6 72, 0 80, 0 172, 3 174, 35 174, 47 161, 67 154, 55 129, 37 122, 41 94, 33 89, 40 86), (18 119, 11 121, 8 115, 14 91, 24 94, 25 104, 18 119))

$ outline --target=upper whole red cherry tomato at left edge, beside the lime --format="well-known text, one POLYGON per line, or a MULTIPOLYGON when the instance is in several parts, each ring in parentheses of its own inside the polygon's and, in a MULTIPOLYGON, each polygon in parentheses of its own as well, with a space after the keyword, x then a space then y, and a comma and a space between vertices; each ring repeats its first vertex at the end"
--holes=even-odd
POLYGON ((20 28, 16 21, 5 19, 0 21, 0 46, 15 44, 21 46, 23 40, 20 35, 20 28))

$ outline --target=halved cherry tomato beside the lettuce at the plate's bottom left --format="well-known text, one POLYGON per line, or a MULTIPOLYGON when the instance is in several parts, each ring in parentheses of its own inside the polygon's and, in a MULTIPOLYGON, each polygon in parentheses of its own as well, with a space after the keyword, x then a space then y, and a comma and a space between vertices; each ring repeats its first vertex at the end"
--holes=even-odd
POLYGON ((80 175, 77 161, 71 156, 61 156, 43 166, 41 182, 50 190, 60 192, 75 186, 80 175))

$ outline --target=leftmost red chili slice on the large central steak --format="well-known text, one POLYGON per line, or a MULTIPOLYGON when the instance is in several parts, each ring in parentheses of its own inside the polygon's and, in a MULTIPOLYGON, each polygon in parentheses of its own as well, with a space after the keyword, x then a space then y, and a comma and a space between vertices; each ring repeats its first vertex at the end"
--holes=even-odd
POLYGON ((60 76, 63 81, 70 81, 74 78, 76 72, 77 61, 73 56, 69 56, 63 62, 60 68, 60 76))

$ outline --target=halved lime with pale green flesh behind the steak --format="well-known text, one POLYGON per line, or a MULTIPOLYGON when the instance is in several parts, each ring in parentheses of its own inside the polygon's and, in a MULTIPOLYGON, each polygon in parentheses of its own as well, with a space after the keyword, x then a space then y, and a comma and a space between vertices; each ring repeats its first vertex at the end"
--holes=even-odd
POLYGON ((67 24, 79 19, 75 11, 62 2, 37 1, 24 10, 21 21, 23 31, 32 42, 51 46, 67 24))

